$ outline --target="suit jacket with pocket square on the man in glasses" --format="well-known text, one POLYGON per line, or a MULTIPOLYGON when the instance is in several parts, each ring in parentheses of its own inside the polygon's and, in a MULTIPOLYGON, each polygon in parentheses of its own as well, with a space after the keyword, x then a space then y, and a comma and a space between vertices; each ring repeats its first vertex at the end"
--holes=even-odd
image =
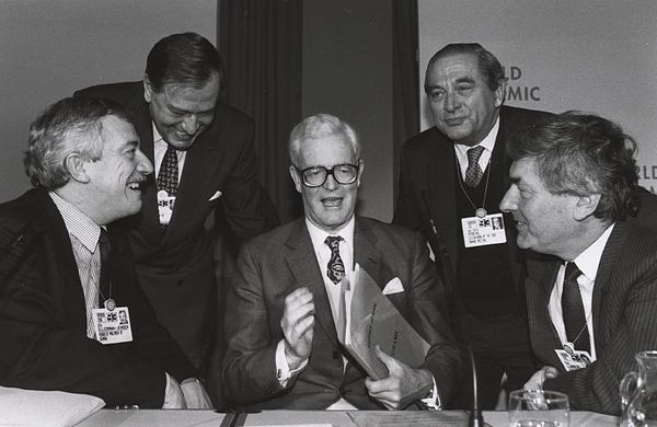
MULTIPOLYGON (((355 263, 383 288, 399 277, 404 292, 389 296, 431 345, 424 368, 436 379, 442 402, 449 400, 459 350, 442 315, 443 288, 418 235, 377 220, 357 217, 355 263)), ((324 409, 344 397, 356 407, 381 409, 369 399, 366 373, 349 357, 343 374, 338 344, 322 272, 304 219, 251 241, 238 258, 228 297, 223 362, 227 395, 256 408, 324 409), (285 297, 300 287, 313 293, 315 327, 308 366, 285 389, 276 377, 276 346, 283 338, 285 297)))

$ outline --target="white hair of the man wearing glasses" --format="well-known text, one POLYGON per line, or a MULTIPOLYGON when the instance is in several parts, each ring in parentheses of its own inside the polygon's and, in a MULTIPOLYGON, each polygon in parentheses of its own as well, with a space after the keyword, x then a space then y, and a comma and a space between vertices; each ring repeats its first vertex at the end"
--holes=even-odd
POLYGON ((360 157, 360 142, 354 128, 345 120, 331 114, 316 114, 306 117, 290 132, 289 154, 292 164, 297 165, 301 143, 308 139, 321 138, 330 135, 344 136, 357 158, 360 157))

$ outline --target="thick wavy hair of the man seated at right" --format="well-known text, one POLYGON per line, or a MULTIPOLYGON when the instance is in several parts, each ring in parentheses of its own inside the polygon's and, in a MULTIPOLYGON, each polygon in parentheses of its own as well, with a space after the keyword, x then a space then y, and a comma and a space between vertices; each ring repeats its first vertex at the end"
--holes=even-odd
POLYGON ((552 194, 600 194, 596 218, 620 221, 636 215, 636 142, 613 122, 566 112, 512 135, 507 150, 514 160, 533 159, 552 194))

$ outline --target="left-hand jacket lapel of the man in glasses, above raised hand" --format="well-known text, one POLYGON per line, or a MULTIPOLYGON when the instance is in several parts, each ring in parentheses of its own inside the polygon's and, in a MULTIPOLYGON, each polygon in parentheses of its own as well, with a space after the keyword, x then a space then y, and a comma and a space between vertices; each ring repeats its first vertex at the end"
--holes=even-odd
POLYGON ((306 286, 312 292, 315 323, 319 324, 333 345, 337 346, 337 333, 335 332, 331 304, 324 288, 324 279, 304 221, 303 217, 297 220, 295 229, 290 232, 286 242, 286 247, 289 250, 286 261, 297 281, 297 288, 306 286))

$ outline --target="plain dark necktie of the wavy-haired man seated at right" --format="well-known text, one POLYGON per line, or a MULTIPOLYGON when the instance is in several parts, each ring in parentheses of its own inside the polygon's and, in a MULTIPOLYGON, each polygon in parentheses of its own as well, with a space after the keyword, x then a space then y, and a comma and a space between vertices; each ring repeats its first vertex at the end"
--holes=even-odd
POLYGON ((584 314, 581 293, 577 284, 579 276, 581 276, 581 272, 577 268, 577 265, 575 263, 566 263, 564 291, 562 292, 562 313, 568 342, 573 343, 576 349, 590 354, 590 338, 584 314))

